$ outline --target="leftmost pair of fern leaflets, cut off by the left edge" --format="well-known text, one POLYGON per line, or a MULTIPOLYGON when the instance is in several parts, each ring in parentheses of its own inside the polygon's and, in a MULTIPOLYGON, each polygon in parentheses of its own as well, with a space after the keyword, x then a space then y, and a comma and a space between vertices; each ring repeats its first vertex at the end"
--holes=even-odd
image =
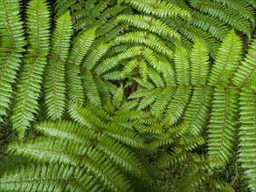
POLYGON ((19 16, 19 1, 0 2, 0 122, 6 116, 12 97, 11 84, 15 82, 21 64, 24 45, 23 22, 19 16))

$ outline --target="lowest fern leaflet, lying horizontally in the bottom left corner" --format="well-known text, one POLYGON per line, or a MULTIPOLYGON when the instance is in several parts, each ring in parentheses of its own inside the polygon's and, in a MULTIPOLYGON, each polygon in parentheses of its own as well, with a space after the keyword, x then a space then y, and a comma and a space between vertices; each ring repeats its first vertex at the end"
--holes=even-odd
POLYGON ((62 191, 66 184, 63 181, 68 180, 72 174, 73 168, 67 165, 30 165, 6 172, 0 179, 0 189, 3 191, 62 191), (25 178, 24 175, 26 175, 25 178), (58 179, 56 179, 57 176, 58 179))

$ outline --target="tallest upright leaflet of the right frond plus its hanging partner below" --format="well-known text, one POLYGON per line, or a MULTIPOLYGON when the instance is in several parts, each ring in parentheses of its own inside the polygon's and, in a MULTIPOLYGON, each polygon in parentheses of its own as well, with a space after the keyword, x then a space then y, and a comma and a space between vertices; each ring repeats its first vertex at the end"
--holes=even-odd
POLYGON ((232 148, 236 139, 237 109, 239 108, 236 101, 239 92, 228 85, 239 63, 240 52, 239 38, 234 31, 231 31, 225 37, 222 47, 218 51, 216 63, 213 65, 210 75, 210 84, 223 85, 223 87, 217 86, 214 91, 208 149, 209 154, 218 154, 223 161, 228 161, 232 156, 234 151, 232 148), (232 47, 236 47, 236 51, 232 51, 232 47), (225 148, 222 149, 223 147, 225 148))

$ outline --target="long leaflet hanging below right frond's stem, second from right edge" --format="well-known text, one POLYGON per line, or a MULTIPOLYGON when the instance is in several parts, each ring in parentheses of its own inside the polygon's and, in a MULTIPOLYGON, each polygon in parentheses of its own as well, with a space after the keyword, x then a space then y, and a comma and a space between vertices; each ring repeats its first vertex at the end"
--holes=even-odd
MULTIPOLYGON (((208 130, 209 158, 229 161, 235 152, 238 129, 239 92, 232 87, 216 87, 213 93, 208 130)), ((221 162, 220 162, 221 163, 221 162)))

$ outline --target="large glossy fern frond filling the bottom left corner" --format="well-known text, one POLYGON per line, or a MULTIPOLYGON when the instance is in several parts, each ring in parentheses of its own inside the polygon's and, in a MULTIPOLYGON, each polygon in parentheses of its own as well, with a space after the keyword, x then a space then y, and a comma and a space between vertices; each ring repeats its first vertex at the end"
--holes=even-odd
POLYGON ((147 176, 135 154, 107 135, 68 121, 44 122, 36 130, 48 137, 13 143, 8 150, 44 164, 21 168, 24 175, 30 175, 26 179, 14 179, 17 170, 3 175, 1 190, 128 191, 131 185, 121 170, 147 176))

